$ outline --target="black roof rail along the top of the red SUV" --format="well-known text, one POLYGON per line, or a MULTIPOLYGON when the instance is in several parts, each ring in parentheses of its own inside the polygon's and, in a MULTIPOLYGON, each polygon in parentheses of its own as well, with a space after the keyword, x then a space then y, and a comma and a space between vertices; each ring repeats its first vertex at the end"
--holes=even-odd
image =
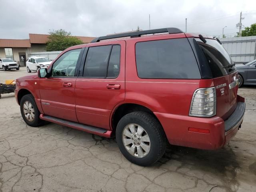
POLYGON ((145 30, 145 31, 135 31, 135 32, 128 32, 128 33, 121 33, 121 34, 114 34, 114 35, 107 35, 107 36, 101 36, 96 37, 91 41, 91 43, 99 42, 100 40, 106 40, 106 39, 114 39, 114 38, 120 38, 120 37, 140 37, 141 35, 146 34, 154 34, 154 33, 184 33, 182 30, 178 28, 162 28, 162 29, 152 29, 152 30, 145 30))

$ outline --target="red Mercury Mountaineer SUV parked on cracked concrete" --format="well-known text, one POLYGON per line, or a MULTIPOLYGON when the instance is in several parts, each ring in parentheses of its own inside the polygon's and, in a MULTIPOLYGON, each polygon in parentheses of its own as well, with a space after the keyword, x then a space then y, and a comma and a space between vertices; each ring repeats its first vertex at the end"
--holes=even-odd
POLYGON ((50 121, 115 135, 128 160, 148 166, 166 140, 224 146, 244 117, 237 91, 238 73, 217 38, 163 28, 70 47, 47 69, 18 78, 15 95, 29 126, 50 121))

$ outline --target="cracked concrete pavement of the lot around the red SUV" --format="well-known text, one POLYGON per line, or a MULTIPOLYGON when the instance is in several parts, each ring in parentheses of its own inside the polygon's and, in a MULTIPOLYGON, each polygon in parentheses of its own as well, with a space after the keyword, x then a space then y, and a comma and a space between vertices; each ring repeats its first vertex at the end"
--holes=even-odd
MULTIPOLYGON (((27 75, 0 71, 0 82, 27 75)), ((126 160, 114 139, 57 124, 27 126, 14 94, 0 99, 1 192, 255 192, 256 86, 243 87, 242 128, 217 151, 168 146, 151 167, 126 160)))

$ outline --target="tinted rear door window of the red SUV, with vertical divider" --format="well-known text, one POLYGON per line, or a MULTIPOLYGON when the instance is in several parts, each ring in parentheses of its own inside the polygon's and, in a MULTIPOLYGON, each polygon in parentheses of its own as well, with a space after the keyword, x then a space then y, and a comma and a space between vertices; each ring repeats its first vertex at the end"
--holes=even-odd
POLYGON ((115 78, 120 68, 120 45, 90 47, 84 65, 84 77, 115 78))

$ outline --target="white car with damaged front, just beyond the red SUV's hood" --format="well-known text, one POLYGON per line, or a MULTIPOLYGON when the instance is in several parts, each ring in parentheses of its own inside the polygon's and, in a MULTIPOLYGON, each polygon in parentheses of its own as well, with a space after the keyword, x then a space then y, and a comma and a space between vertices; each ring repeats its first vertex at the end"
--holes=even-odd
POLYGON ((26 67, 28 73, 31 71, 38 71, 41 68, 47 68, 51 64, 51 60, 47 57, 32 56, 26 61, 26 67))

